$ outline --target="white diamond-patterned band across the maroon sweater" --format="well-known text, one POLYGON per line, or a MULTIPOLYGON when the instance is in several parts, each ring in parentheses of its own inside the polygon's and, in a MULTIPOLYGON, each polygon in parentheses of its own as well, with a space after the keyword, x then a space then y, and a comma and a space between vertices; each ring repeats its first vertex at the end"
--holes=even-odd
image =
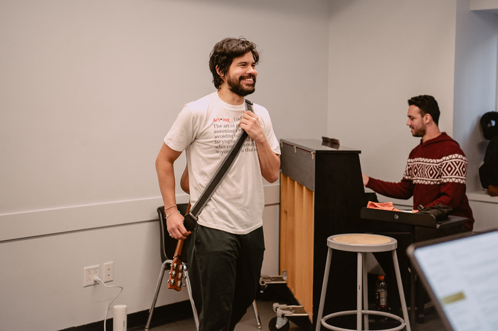
POLYGON ((408 158, 403 178, 423 185, 465 184, 467 158, 462 154, 452 154, 439 159, 408 158))

